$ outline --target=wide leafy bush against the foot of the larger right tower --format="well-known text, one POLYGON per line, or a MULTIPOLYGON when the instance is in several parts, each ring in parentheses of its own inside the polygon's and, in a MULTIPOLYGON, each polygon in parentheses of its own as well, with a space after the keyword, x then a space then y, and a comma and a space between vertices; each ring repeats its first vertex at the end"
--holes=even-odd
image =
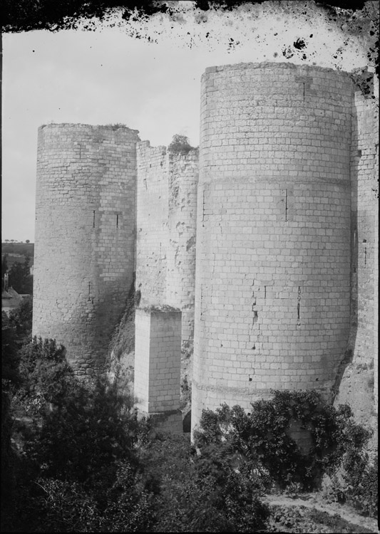
POLYGON ((222 404, 216 412, 204 410, 195 441, 200 449, 212 444, 227 447, 250 466, 257 480, 280 488, 298 484, 304 490, 320 486, 324 473, 334 474, 344 461, 356 457, 370 437, 355 424, 346 405, 335 409, 324 404, 315 391, 275 391, 271 400, 252 404, 246 414, 239 407, 222 404), (290 429, 299 422, 311 438, 305 453, 290 429), (355 456, 356 455, 356 456, 355 456))

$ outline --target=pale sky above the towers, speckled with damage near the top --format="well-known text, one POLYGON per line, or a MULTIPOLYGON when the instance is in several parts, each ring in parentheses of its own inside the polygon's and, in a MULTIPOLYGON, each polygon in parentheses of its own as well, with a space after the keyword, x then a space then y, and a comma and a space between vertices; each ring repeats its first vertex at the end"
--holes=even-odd
POLYGON ((175 21, 159 14, 132 25, 115 18, 96 31, 4 34, 2 241, 34 242, 39 126, 123 123, 152 146, 175 134, 197 146, 206 67, 274 61, 350 71, 367 66, 367 50, 366 32, 347 33, 312 1, 232 12, 188 1, 175 21))

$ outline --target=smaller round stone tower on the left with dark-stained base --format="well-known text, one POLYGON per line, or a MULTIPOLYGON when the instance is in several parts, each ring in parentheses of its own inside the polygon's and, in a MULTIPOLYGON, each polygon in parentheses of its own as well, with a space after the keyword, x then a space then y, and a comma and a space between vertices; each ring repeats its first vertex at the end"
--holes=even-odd
POLYGON ((101 370, 134 270, 137 130, 38 130, 33 333, 101 370))

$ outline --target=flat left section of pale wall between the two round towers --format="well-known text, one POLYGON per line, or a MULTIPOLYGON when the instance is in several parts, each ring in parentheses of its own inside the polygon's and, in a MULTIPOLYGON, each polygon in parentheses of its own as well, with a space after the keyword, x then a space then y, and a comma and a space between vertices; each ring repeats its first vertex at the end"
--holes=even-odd
POLYGON ((166 299, 168 156, 165 147, 138 143, 136 282, 141 306, 166 299))

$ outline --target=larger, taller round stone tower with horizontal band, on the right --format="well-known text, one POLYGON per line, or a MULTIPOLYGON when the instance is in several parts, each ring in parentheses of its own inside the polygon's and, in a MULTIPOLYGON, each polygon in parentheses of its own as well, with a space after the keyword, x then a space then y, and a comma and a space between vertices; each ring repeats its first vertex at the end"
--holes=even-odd
POLYGON ((332 387, 349 333, 346 73, 202 76, 192 426, 221 402, 332 387))

